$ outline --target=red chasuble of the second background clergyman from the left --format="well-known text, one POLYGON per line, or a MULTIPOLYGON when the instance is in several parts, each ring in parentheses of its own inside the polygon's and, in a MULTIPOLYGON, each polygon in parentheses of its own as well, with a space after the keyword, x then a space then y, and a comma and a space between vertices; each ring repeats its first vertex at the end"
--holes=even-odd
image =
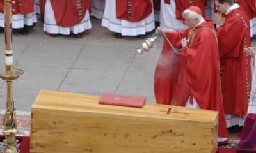
MULTIPOLYGON (((46 0, 40 0, 41 15, 44 15, 45 2, 46 0)), ((72 27, 79 24, 91 5, 92 0, 51 0, 56 24, 61 27, 72 27)))

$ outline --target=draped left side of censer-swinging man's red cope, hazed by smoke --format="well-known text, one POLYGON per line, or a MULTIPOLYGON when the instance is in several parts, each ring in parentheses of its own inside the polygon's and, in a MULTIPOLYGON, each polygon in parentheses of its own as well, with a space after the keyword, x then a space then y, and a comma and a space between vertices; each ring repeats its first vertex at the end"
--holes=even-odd
MULTIPOLYGON (((185 37, 187 31, 167 32, 168 40, 174 47, 180 47, 180 38, 185 37)), ((175 96, 175 83, 179 75, 179 54, 176 54, 164 38, 161 55, 157 62, 154 75, 154 92, 156 103, 170 105, 175 96)))

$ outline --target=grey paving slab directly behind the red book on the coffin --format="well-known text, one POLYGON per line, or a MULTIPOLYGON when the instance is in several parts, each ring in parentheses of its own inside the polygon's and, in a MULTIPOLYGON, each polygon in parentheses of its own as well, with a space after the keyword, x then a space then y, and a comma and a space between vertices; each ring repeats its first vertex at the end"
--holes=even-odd
POLYGON ((102 71, 94 69, 70 69, 67 78, 60 86, 60 91, 78 92, 99 96, 102 92, 114 93, 122 71, 102 71))

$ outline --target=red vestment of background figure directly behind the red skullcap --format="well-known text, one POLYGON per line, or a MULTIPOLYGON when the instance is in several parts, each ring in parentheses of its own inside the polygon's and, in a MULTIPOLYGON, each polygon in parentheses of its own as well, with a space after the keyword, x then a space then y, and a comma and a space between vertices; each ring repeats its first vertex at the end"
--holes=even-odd
MULTIPOLYGON (((171 0, 164 0, 164 3, 170 4, 171 0)), ((202 11, 202 16, 205 18, 205 5, 207 4, 207 0, 175 0, 176 4, 176 18, 178 20, 183 20, 182 13, 189 6, 194 5, 198 6, 202 11)))

